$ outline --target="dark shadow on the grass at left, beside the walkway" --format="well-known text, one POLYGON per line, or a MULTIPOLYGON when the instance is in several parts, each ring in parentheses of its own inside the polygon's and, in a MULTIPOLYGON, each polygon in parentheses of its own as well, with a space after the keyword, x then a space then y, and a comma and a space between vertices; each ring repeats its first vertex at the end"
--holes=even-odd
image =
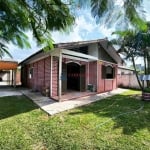
POLYGON ((0 120, 37 109, 25 96, 0 97, 0 120))

